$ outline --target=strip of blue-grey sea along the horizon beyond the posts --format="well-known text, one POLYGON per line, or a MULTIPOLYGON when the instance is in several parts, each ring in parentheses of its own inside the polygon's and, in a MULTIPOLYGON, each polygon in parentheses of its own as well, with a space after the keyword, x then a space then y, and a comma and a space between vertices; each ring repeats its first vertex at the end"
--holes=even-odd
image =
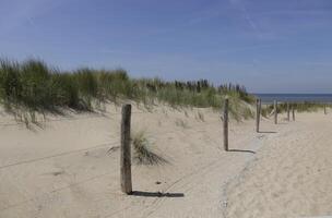
POLYGON ((324 102, 332 104, 332 94, 253 94, 262 100, 263 104, 270 104, 274 100, 281 102, 324 102))

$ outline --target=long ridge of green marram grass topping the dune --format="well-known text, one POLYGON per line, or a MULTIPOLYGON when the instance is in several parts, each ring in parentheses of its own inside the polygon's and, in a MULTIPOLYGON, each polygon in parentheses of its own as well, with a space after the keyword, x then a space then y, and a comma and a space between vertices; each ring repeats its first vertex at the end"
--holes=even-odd
POLYGON ((239 85, 215 87, 208 81, 164 82, 130 78, 124 70, 79 69, 63 72, 39 60, 0 60, 0 100, 7 108, 57 111, 59 108, 93 110, 93 102, 131 99, 146 106, 165 102, 173 107, 221 108, 230 98, 235 116, 250 116, 254 98, 239 85), (247 110, 248 109, 248 110, 247 110))

